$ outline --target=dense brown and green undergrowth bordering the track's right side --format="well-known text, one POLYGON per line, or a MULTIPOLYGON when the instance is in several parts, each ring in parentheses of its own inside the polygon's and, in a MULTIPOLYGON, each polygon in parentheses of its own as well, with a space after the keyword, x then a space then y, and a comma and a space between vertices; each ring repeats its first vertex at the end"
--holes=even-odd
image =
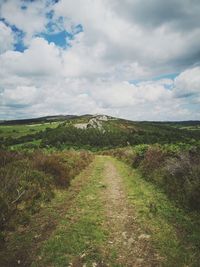
POLYGON ((138 145, 104 152, 138 168, 142 176, 189 211, 200 210, 200 150, 186 144, 138 145))

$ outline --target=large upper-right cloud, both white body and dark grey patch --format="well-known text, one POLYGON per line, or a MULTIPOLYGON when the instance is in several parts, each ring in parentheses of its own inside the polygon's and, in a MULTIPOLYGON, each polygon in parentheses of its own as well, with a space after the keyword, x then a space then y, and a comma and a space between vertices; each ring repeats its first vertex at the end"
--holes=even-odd
POLYGON ((54 10, 57 16, 71 17, 72 21, 83 25, 86 47, 103 43, 102 57, 110 64, 138 62, 155 72, 158 68, 160 72, 164 72, 169 64, 170 71, 177 68, 177 65, 182 70, 185 65, 200 60, 200 27, 197 16, 200 4, 195 1, 195 5, 191 5, 189 2, 177 0, 163 3, 152 0, 144 3, 126 0, 122 4, 121 1, 113 0, 61 0, 54 10), (165 16, 162 15, 164 13, 165 16), (141 20, 137 18, 137 14, 141 20), (190 20, 195 26, 191 26, 183 34, 186 28, 184 24, 190 20), (179 21, 182 29, 177 30, 174 21, 179 21), (149 25, 152 27, 149 28, 149 25))

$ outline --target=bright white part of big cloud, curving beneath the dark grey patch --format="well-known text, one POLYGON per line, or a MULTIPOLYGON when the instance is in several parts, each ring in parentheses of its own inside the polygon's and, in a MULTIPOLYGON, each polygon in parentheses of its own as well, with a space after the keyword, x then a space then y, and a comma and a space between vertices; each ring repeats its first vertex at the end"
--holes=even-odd
MULTIPOLYGON (((98 43, 103 44, 101 57, 110 65, 138 63, 139 67, 148 68, 150 74, 158 74, 158 71, 174 71, 175 68, 177 71, 179 64, 178 70, 181 70, 182 63, 192 57, 191 51, 199 51, 199 28, 187 34, 174 30, 167 22, 149 28, 137 20, 127 19, 128 15, 122 16, 120 7, 127 8, 129 12, 130 8, 134 11, 134 4, 139 5, 136 0, 132 1, 132 5, 127 5, 127 2, 130 1, 126 1, 125 5, 120 2, 116 8, 117 3, 112 0, 61 0, 55 5, 55 14, 81 23, 85 32, 82 39, 84 46, 92 49, 98 43)), ((199 60, 199 57, 194 60, 199 60)))

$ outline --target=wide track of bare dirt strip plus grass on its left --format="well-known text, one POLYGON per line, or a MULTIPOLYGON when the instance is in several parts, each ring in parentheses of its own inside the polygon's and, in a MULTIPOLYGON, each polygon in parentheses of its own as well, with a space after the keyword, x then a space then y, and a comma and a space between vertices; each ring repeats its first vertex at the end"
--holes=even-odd
POLYGON ((97 156, 63 193, 10 237, 1 266, 160 266, 112 158, 97 156))

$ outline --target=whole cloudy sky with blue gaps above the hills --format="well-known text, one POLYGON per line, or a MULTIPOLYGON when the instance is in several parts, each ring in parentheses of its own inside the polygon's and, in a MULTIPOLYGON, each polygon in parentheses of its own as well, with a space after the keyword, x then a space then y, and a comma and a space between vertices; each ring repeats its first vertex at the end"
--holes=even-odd
POLYGON ((199 120, 199 14, 199 0, 0 0, 0 120, 199 120))

